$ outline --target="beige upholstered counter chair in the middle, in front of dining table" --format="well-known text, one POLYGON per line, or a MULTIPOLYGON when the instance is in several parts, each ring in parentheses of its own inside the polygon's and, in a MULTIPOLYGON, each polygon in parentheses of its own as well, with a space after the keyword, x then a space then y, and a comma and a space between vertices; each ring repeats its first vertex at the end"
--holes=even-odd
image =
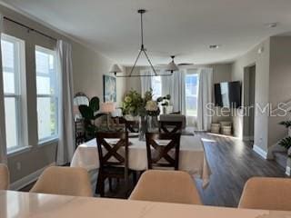
POLYGON ((142 174, 129 200, 202 204, 190 174, 149 170, 142 174))

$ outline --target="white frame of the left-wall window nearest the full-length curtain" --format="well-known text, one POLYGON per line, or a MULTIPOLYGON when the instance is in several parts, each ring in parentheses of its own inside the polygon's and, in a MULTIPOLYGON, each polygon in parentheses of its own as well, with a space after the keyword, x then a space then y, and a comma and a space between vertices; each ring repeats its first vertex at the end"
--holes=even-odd
POLYGON ((57 70, 56 70, 56 51, 46 48, 41 45, 35 45, 35 84, 36 84, 36 113, 37 112, 37 100, 38 98, 49 98, 51 101, 53 100, 55 102, 55 134, 45 137, 45 138, 39 138, 38 135, 38 114, 36 116, 36 124, 37 124, 37 142, 38 145, 45 145, 45 144, 50 144, 52 142, 57 142, 59 139, 59 124, 58 124, 58 119, 59 119, 59 90, 58 90, 58 84, 55 84, 55 94, 38 94, 37 93, 37 76, 42 76, 42 77, 47 77, 51 79, 51 76, 43 73, 37 73, 36 70, 36 52, 40 53, 45 53, 45 54, 51 54, 54 56, 54 69, 55 69, 55 83, 58 82, 58 76, 57 76, 57 70))

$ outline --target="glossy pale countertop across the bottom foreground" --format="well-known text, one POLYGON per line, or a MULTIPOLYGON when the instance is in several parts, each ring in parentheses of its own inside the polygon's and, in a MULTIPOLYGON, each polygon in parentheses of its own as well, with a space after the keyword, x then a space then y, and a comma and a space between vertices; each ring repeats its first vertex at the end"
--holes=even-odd
POLYGON ((291 212, 0 191, 1 218, 289 218, 291 212))

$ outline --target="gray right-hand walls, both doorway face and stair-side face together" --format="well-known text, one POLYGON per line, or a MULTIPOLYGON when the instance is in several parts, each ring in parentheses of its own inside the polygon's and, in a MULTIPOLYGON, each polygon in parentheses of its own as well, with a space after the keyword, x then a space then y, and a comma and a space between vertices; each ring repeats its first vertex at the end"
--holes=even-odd
MULTIPOLYGON (((255 102, 261 106, 270 103, 271 110, 276 109, 278 103, 291 100, 291 37, 273 36, 266 39, 260 45, 251 49, 248 53, 237 58, 232 67, 232 80, 244 80, 245 67, 256 64, 256 94, 255 102), (263 48, 261 54, 259 48, 263 48)), ((244 86, 244 85, 243 85, 244 86)), ((290 108, 286 108, 289 109, 290 108)), ((268 149, 286 136, 286 129, 278 125, 287 117, 269 116, 266 113, 255 114, 255 145, 266 153, 268 149)), ((234 116, 236 124, 236 136, 243 136, 243 116, 234 116)))

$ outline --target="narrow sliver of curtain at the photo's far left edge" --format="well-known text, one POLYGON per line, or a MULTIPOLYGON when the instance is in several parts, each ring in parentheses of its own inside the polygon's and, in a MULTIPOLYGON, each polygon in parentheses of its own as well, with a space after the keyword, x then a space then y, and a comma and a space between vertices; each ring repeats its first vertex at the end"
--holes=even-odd
MULTIPOLYGON (((3 30, 3 15, 0 15, 0 35, 3 30)), ((1 38, 1 37, 0 37, 1 38)), ((2 54, 0 44, 0 163, 7 163, 6 156, 6 132, 5 132, 5 101, 3 89, 2 54)))

